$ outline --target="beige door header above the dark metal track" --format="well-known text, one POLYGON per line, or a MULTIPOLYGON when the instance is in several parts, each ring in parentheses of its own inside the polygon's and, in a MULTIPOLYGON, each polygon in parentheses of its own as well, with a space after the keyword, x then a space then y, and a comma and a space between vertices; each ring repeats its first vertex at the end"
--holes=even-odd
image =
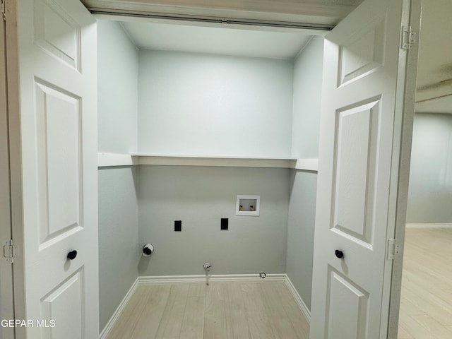
POLYGON ((336 25, 362 0, 81 0, 93 13, 336 25))

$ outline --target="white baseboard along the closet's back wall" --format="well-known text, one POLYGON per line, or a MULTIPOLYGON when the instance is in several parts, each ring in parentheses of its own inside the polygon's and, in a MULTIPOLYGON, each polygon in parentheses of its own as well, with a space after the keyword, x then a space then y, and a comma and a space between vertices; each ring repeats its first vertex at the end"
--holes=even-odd
MULTIPOLYGON (((285 274, 267 274, 265 280, 285 280, 285 274)), ((258 274, 213 274, 209 281, 259 281, 258 274)), ((139 285, 162 283, 196 283, 206 281, 206 275, 157 275, 138 277, 139 285)))

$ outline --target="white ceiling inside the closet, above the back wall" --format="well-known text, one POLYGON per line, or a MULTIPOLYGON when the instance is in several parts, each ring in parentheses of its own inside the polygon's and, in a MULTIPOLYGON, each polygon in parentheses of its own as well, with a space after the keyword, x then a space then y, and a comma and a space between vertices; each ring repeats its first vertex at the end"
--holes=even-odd
POLYGON ((293 59, 309 41, 304 31, 274 32, 182 23, 121 23, 139 49, 293 59))

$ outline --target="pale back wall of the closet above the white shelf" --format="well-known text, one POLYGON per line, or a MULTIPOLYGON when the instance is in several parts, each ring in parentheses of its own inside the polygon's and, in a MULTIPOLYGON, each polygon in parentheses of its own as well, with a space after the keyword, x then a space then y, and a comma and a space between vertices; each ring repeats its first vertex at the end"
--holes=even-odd
POLYGON ((290 155, 290 60, 140 52, 138 150, 290 155))

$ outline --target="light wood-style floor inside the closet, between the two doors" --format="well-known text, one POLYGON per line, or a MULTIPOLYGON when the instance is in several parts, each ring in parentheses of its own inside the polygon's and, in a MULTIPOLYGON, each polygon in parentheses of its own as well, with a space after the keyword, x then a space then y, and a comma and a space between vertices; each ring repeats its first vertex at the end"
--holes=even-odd
POLYGON ((309 325, 285 283, 140 286, 108 339, 308 339, 309 325))

